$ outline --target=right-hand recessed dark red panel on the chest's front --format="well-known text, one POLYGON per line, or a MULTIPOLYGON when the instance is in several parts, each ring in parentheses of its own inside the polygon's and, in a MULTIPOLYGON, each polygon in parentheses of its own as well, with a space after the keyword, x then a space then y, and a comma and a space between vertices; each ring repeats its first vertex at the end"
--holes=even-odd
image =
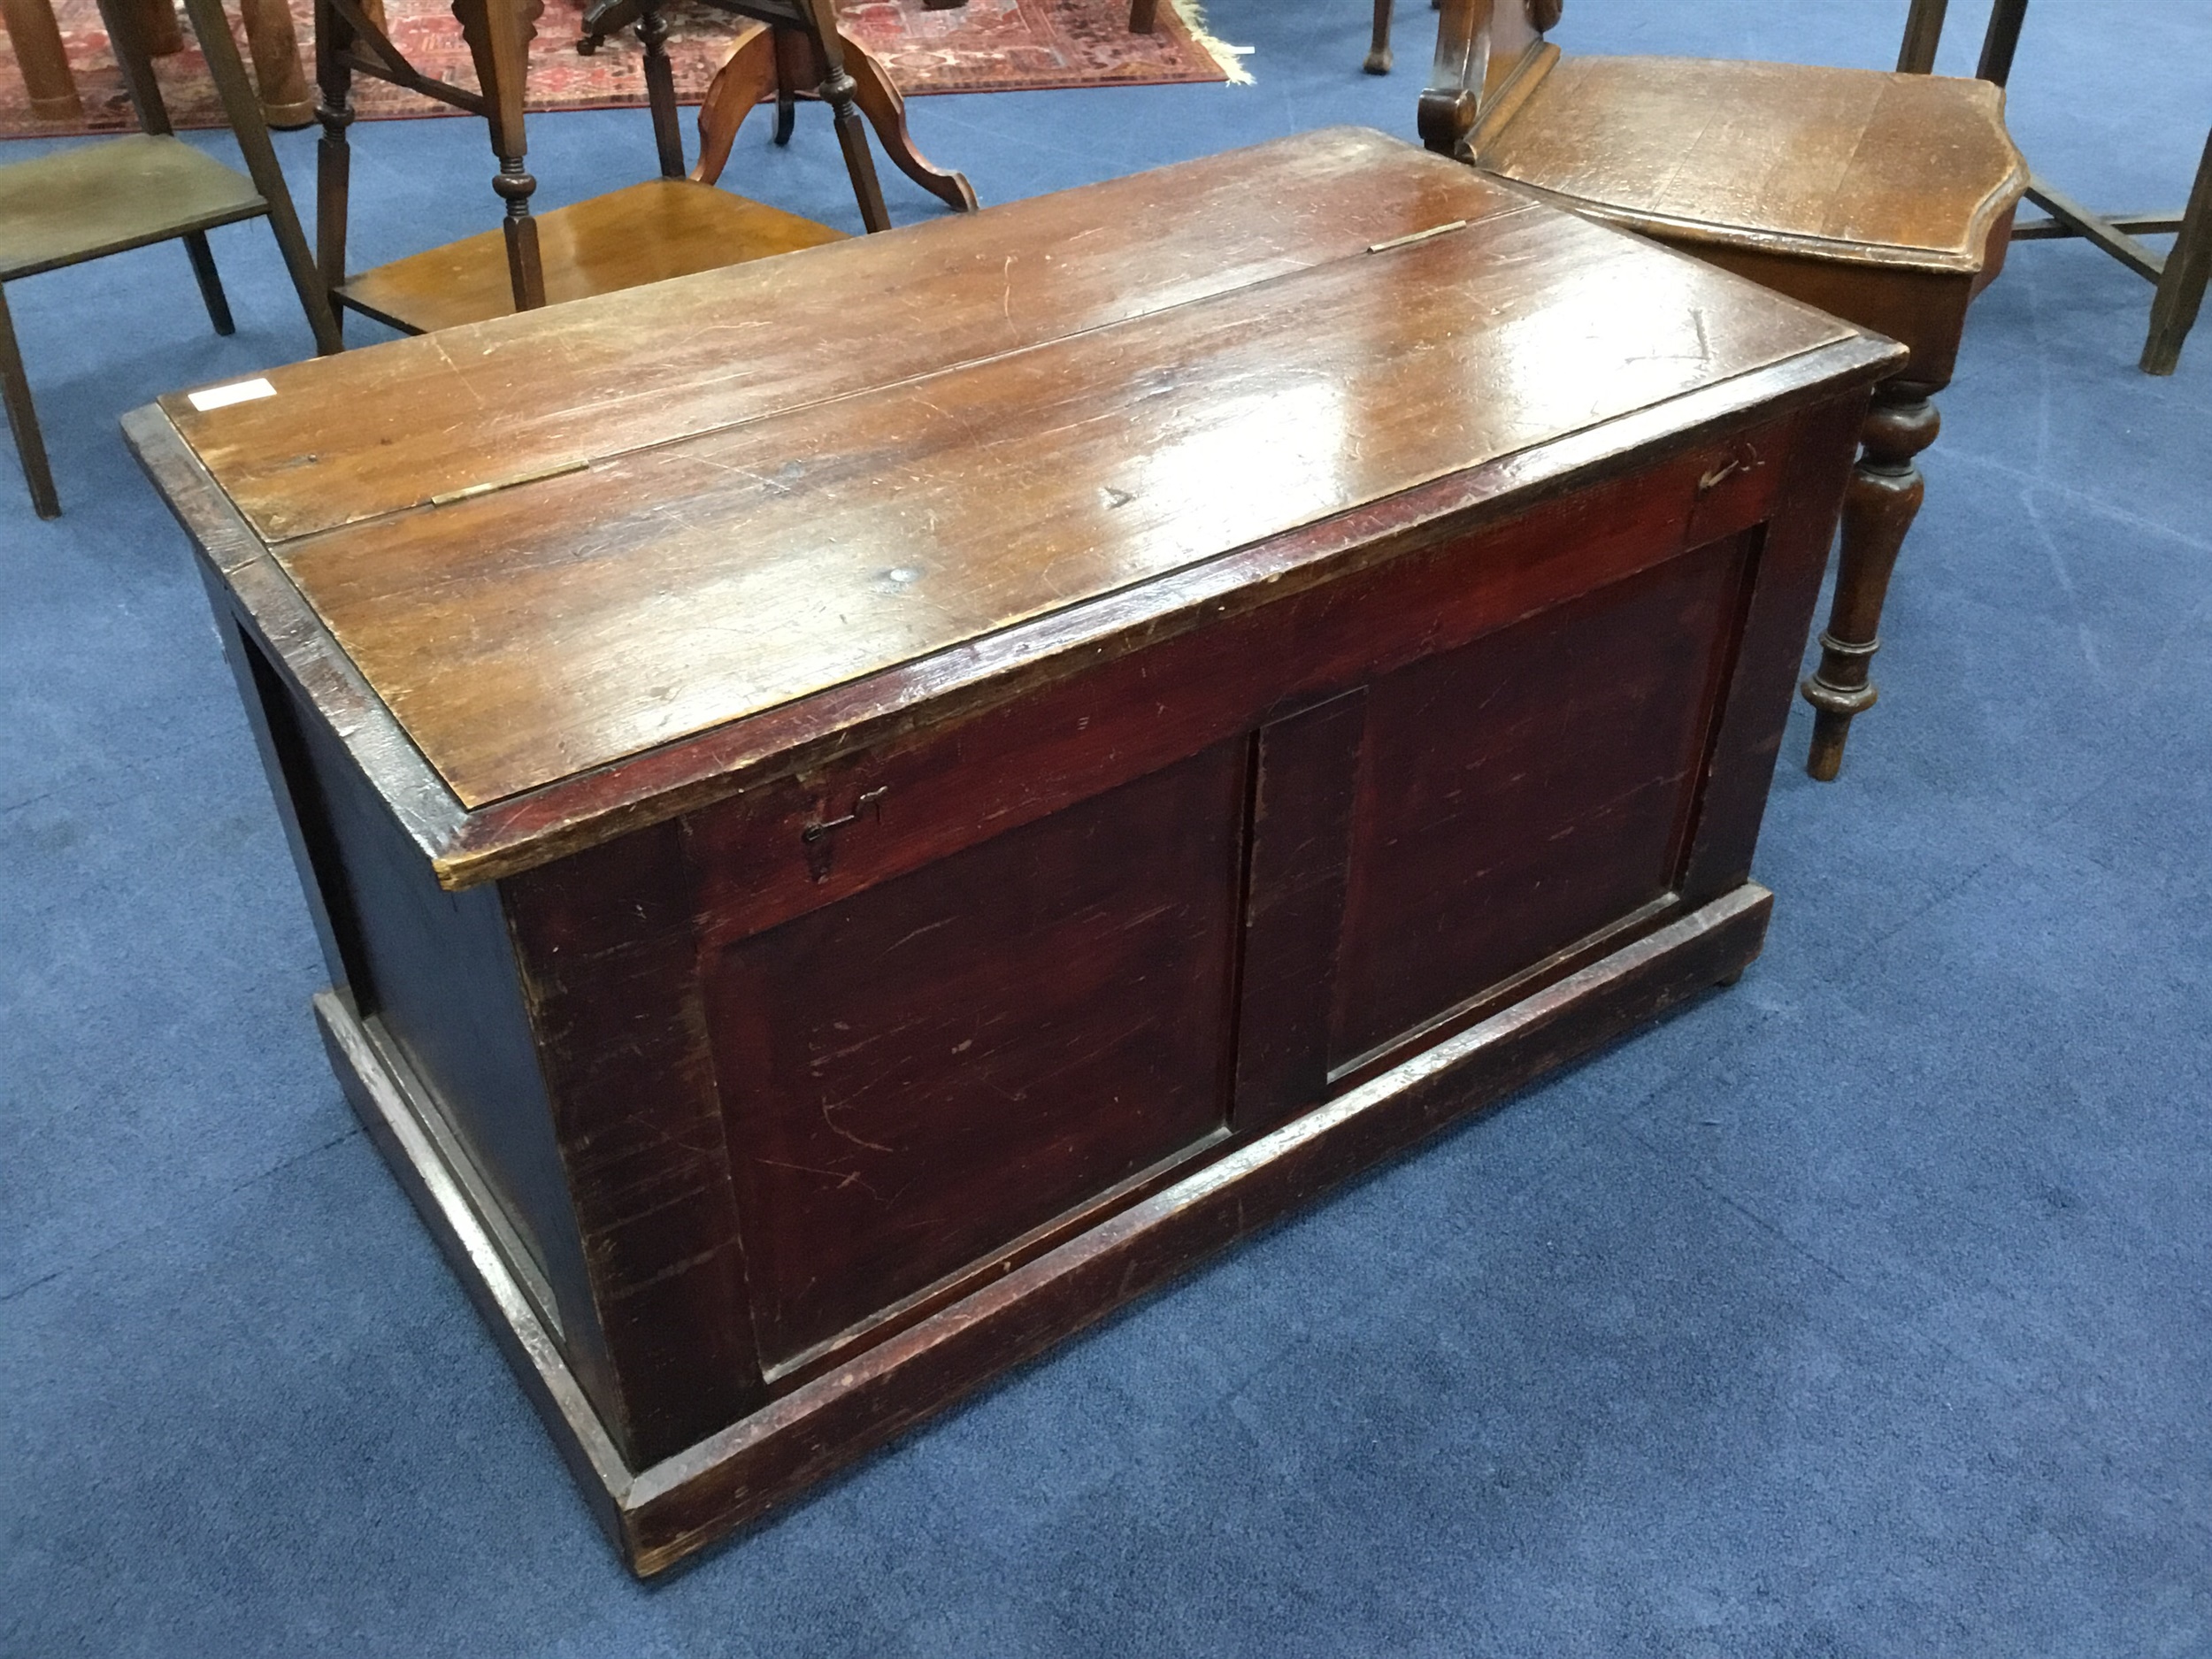
POLYGON ((1668 891, 1739 575, 1708 544, 1369 688, 1338 1064, 1668 891))

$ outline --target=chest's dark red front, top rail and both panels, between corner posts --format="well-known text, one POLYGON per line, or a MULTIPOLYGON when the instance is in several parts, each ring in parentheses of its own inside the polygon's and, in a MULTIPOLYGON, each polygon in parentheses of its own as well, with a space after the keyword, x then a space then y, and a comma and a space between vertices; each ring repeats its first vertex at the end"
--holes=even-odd
POLYGON ((686 821, 770 1387, 1661 927, 1763 546, 1728 453, 686 821))

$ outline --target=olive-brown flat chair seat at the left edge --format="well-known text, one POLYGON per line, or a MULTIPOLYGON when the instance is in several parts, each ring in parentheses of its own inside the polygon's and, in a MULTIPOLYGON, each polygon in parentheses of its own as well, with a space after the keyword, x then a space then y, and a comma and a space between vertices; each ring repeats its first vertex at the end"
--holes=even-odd
POLYGON ((268 212, 237 168, 128 133, 0 166, 0 281, 268 212))

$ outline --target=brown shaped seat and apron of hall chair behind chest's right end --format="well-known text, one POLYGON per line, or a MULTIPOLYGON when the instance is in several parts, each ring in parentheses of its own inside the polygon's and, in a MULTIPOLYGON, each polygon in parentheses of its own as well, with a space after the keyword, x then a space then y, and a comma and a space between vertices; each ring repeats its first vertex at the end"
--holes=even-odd
POLYGON ((2028 186, 1980 80, 1562 58, 1475 164, 1902 341, 1944 385, 2028 186))

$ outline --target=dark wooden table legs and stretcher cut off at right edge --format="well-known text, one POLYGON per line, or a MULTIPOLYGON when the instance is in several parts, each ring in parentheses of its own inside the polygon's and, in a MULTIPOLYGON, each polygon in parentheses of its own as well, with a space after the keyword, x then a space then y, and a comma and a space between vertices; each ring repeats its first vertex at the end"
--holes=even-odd
MULTIPOLYGON (((1947 9, 1949 0, 1913 0, 1898 69, 1924 75, 1936 66, 1947 9)), ((2006 84, 2026 13, 2028 0, 1997 0, 1982 35, 1982 62, 1975 75, 1997 86, 2006 84)), ((2185 208, 2104 215, 2084 208, 2042 175, 2028 181, 2028 201, 2051 217, 2015 221, 2013 241, 2081 237, 2157 288, 2141 367, 2143 374, 2172 374, 2181 363, 2181 343, 2203 307, 2205 279, 2212 276, 2212 135, 2205 135, 2205 153, 2197 164, 2185 208), (2161 232, 2174 232, 2174 246, 2163 254, 2141 241, 2161 232)))

